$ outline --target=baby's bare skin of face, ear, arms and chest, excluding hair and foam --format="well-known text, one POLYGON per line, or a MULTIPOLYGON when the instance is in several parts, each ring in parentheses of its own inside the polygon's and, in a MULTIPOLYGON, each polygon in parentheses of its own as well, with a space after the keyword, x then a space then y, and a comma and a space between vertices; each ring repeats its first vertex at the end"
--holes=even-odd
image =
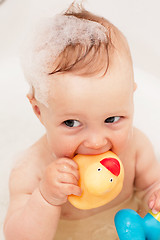
POLYGON ((160 165, 149 140, 132 126, 135 88, 128 57, 118 56, 103 77, 57 76, 48 108, 28 96, 46 135, 22 154, 11 173, 7 240, 53 239, 60 217, 94 215, 122 203, 135 188, 145 191, 144 201, 153 211, 160 210, 160 165), (81 189, 73 156, 108 150, 124 165, 121 193, 97 209, 74 208, 67 197, 81 195, 81 189))

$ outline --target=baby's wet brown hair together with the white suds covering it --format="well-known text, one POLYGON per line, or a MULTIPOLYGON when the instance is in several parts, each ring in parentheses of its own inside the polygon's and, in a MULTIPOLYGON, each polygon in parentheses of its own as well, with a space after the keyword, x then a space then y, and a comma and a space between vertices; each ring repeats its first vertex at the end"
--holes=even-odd
POLYGON ((30 94, 47 106, 48 76, 105 75, 120 42, 124 42, 123 36, 114 25, 86 11, 81 4, 73 3, 66 12, 43 19, 22 57, 30 94))

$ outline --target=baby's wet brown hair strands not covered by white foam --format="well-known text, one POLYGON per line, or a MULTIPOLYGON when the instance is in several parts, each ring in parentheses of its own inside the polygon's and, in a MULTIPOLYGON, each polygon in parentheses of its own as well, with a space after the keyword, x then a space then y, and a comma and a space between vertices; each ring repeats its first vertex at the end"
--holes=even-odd
POLYGON ((108 48, 111 45, 111 39, 109 28, 102 24, 103 18, 86 11, 79 4, 72 4, 64 13, 64 16, 75 17, 81 21, 87 20, 91 24, 98 23, 97 26, 101 25, 103 27, 100 29, 102 35, 98 36, 99 33, 96 34, 97 29, 95 28, 91 34, 86 32, 85 42, 73 43, 71 39, 70 44, 66 45, 63 52, 57 57, 54 70, 50 74, 65 72, 72 72, 80 76, 92 76, 100 72, 105 74, 109 65, 108 48), (103 36, 104 33, 105 37, 103 36))

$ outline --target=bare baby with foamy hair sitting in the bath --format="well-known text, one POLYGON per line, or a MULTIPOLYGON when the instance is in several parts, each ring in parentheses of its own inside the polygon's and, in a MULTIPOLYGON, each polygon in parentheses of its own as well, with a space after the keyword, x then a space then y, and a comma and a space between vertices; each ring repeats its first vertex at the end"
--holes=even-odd
POLYGON ((41 22, 30 39, 22 60, 28 99, 46 134, 12 170, 5 237, 117 239, 119 209, 160 210, 160 164, 133 127, 136 83, 127 41, 109 21, 76 4, 41 22), (72 158, 108 150, 124 165, 121 193, 95 209, 73 207, 68 196, 82 191, 72 158))

